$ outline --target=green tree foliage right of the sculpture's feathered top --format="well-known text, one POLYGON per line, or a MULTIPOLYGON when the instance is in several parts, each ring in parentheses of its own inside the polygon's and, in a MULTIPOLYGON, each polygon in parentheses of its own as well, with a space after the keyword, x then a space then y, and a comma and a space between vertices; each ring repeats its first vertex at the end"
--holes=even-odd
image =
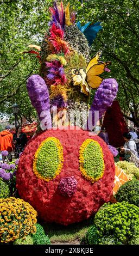
MULTIPOLYGON (((64 2, 67 3, 68 0, 64 2)), ((119 83, 117 99, 120 106, 128 118, 139 125, 139 1, 105 0, 103 3, 98 0, 89 0, 84 1, 84 7, 81 7, 81 1, 71 0, 70 4, 74 10, 77 10, 77 20, 81 21, 81 25, 89 21, 102 22, 103 30, 99 31, 91 47, 92 56, 101 49, 102 60, 111 60, 111 72, 103 77, 116 78, 119 83), (104 12, 105 4, 108 4, 106 13, 104 12), (131 9, 130 16, 126 14, 128 8, 131 9), (132 113, 134 118, 130 118, 129 113, 132 113)))

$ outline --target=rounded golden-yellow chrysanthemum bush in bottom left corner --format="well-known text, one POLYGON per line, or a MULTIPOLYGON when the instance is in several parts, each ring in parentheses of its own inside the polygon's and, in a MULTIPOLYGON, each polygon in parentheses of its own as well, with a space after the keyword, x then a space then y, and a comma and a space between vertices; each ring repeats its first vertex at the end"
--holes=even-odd
POLYGON ((34 208, 23 199, 0 199, 0 241, 8 243, 35 234, 36 216, 34 208))

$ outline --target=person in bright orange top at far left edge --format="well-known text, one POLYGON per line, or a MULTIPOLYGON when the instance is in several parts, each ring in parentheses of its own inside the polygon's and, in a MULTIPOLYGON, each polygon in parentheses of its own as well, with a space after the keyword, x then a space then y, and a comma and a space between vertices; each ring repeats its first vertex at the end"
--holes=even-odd
MULTIPOLYGON (((11 162, 12 161, 12 139, 13 135, 11 133, 11 126, 7 125, 5 127, 5 130, 0 132, 0 151, 7 150, 8 151, 8 156, 7 159, 11 162)), ((4 163, 6 159, 6 156, 2 156, 2 161, 4 163)))

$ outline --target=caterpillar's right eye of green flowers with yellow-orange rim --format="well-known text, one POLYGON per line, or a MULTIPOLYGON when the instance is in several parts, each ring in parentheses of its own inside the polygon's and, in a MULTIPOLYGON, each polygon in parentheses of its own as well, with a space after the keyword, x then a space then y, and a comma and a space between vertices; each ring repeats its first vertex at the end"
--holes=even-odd
POLYGON ((86 139, 80 147, 79 169, 87 180, 92 183, 102 178, 105 164, 103 151, 97 141, 86 139))

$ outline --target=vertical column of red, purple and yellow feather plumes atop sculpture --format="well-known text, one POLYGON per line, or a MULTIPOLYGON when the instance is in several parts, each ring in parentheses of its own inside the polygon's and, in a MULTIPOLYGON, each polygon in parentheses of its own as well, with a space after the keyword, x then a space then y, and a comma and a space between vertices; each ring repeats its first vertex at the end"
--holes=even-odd
POLYGON ((48 86, 65 85, 67 78, 64 72, 64 66, 67 65, 65 55, 69 53, 69 46, 64 40, 64 27, 65 27, 65 11, 63 4, 58 7, 54 3, 54 8, 50 8, 52 13, 52 21, 50 22, 49 30, 49 44, 52 48, 52 54, 47 57, 46 67, 48 74, 46 81, 48 86))

